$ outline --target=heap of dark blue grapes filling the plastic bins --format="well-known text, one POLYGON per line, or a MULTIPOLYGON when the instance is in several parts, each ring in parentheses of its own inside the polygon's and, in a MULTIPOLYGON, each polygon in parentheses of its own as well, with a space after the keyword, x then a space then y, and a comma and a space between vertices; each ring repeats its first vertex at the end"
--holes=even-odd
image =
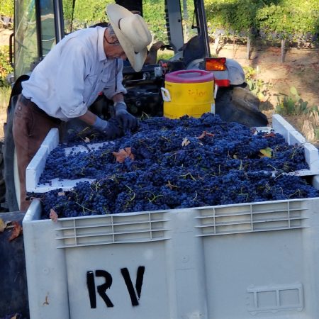
MULTIPOLYGON (((92 141, 102 139, 94 134, 92 141)), ((32 194, 43 201, 43 218, 51 208, 59 217, 75 217, 318 196, 301 177, 286 174, 308 168, 303 147, 211 113, 149 118, 138 132, 113 144, 65 155, 65 147, 78 144, 56 147, 40 182, 56 177, 95 181, 78 183, 72 191, 32 194), (134 159, 116 162, 113 152, 127 147, 134 159)))

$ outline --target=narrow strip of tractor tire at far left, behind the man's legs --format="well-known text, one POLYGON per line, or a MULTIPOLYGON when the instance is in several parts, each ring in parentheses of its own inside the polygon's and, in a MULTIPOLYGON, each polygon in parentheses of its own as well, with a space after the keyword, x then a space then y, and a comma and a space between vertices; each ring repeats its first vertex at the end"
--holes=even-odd
POLYGON ((9 211, 19 211, 16 192, 20 189, 18 181, 18 167, 15 160, 15 146, 13 141, 13 115, 16 106, 17 96, 11 99, 11 106, 7 113, 6 124, 4 125, 4 145, 2 154, 4 157, 4 181, 6 183, 6 208, 9 211))

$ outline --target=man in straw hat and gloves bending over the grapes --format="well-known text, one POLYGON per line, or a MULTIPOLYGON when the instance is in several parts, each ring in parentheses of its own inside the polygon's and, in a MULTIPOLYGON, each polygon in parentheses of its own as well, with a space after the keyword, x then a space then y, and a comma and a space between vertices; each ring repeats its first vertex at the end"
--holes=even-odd
POLYGON ((111 26, 67 35, 22 84, 13 118, 21 211, 30 205, 26 200, 26 167, 51 128, 78 118, 113 139, 138 125, 123 99, 123 60, 128 58, 138 72, 152 37, 142 17, 122 6, 110 4, 106 13, 111 26), (104 121, 88 110, 101 91, 113 100, 116 121, 104 121))

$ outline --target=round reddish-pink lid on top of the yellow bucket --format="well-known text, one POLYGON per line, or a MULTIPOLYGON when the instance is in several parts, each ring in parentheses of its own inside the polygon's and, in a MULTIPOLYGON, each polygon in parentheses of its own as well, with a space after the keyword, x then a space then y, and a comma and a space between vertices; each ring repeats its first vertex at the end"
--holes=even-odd
POLYGON ((165 75, 165 81, 173 83, 202 83, 213 79, 214 74, 203 69, 184 69, 165 75))

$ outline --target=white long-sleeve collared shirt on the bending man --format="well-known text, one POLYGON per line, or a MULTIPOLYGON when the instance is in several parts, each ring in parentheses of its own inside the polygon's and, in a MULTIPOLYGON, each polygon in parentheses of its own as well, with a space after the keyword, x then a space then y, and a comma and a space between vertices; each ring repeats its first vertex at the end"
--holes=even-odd
POLYGON ((105 28, 86 28, 67 35, 22 82, 22 94, 48 115, 68 121, 86 113, 99 93, 108 99, 126 93, 123 60, 107 59, 103 47, 105 28))

